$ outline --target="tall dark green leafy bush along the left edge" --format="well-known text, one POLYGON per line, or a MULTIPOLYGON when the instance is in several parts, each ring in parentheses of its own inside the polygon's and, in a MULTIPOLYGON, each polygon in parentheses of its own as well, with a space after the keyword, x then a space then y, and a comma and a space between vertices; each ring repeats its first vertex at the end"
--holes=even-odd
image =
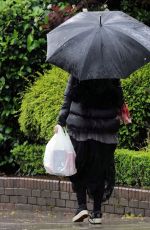
MULTIPOLYGON (((20 138, 17 111, 21 93, 43 72, 46 35, 42 31, 46 2, 1 0, 0 4, 0 151, 8 154, 20 138)), ((2 161, 2 156, 0 156, 2 161)))

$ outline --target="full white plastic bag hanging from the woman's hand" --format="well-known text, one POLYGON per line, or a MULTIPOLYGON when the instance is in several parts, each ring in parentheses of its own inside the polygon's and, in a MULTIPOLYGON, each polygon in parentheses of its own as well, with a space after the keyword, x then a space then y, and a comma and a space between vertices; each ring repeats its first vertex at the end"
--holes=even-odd
POLYGON ((44 168, 47 173, 71 176, 77 170, 75 167, 75 151, 67 131, 58 125, 58 132, 46 145, 44 154, 44 168))

